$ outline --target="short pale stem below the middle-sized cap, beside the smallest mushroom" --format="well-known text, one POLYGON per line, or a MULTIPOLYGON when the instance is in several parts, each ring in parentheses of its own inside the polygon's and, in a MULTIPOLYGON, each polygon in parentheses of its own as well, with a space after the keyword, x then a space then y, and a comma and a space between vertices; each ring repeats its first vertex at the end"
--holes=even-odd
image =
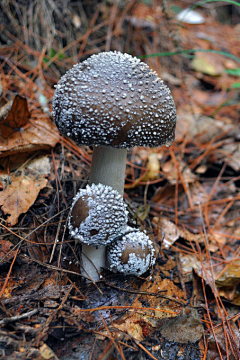
POLYGON ((106 267, 106 247, 96 247, 82 244, 81 269, 82 274, 90 280, 98 281, 102 267, 106 267))

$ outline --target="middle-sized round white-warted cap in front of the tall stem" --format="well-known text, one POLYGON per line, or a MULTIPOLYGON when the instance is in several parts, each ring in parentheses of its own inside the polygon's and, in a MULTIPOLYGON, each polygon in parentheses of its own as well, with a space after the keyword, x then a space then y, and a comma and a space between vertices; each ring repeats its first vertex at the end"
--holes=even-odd
POLYGON ((127 224, 126 205, 117 190, 102 184, 80 189, 70 210, 69 231, 73 238, 91 246, 106 246, 127 224))

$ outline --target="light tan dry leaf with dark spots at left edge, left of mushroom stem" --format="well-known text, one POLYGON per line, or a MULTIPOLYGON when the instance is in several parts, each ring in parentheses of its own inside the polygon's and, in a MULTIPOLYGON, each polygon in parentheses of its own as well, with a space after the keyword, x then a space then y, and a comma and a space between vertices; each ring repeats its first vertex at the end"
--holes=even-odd
POLYGON ((0 206, 4 214, 10 215, 7 222, 11 226, 17 223, 19 215, 33 205, 39 191, 47 185, 46 175, 50 169, 48 157, 39 157, 33 163, 10 174, 6 188, 0 193, 0 206))

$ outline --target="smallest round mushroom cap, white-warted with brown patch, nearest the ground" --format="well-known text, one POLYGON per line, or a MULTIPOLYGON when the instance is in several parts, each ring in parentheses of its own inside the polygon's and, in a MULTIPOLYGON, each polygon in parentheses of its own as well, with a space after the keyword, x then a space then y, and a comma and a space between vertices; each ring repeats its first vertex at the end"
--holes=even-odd
POLYGON ((149 237, 127 226, 124 234, 107 247, 108 266, 113 272, 140 276, 155 263, 154 253, 149 237))

